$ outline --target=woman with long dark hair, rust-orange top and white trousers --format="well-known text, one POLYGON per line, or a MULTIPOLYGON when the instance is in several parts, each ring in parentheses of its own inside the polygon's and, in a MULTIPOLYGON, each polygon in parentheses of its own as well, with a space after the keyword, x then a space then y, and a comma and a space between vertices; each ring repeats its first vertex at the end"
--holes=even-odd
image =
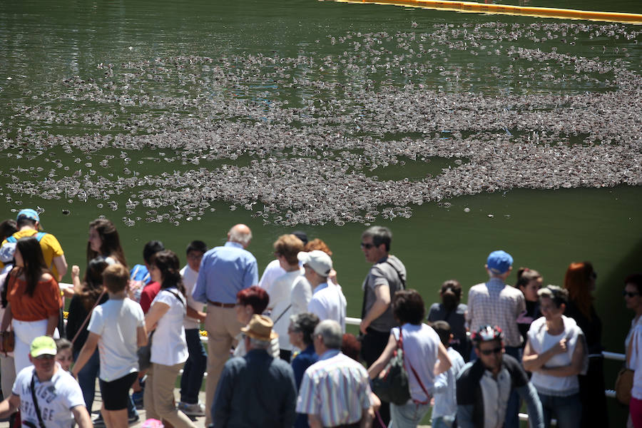
MULTIPOLYGON (((63 301, 58 281, 47 269, 40 243, 34 237, 20 238, 14 253, 16 268, 7 283, 6 310, 0 331, 14 330, 16 374, 31 365, 29 347, 40 336, 54 336, 63 301)), ((1 347, 1 345, 0 345, 1 347)), ((0 352, 3 350, 0 349, 0 352)))

